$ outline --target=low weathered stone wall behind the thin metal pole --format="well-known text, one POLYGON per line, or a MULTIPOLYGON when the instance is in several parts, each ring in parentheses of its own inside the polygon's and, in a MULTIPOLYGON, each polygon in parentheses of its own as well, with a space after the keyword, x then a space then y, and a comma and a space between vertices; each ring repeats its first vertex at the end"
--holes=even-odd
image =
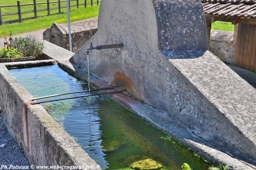
MULTIPOLYGON (((72 51, 76 52, 97 32, 98 18, 71 23, 72 51)), ((43 33, 44 40, 69 50, 68 24, 53 23, 43 33)))

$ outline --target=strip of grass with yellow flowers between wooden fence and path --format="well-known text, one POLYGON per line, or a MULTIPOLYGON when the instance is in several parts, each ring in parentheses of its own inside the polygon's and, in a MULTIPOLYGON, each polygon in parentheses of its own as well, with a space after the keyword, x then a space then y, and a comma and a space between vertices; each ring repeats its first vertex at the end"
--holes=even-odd
MULTIPOLYGON (((97 6, 97 4, 94 4, 94 6, 92 7, 87 6, 87 8, 73 7, 71 9, 70 19, 71 21, 79 21, 79 20, 97 17, 99 14, 99 8, 100 6, 97 6)), ((62 8, 62 10, 63 12, 61 14, 55 14, 51 16, 45 16, 42 18, 36 18, 33 20, 27 20, 21 23, 0 25, 0 37, 4 37, 4 33, 6 33, 6 35, 10 34, 10 31, 12 31, 12 34, 15 35, 18 33, 24 33, 24 32, 34 31, 38 29, 48 28, 54 22, 67 23, 66 10, 64 10, 64 8, 62 8)))

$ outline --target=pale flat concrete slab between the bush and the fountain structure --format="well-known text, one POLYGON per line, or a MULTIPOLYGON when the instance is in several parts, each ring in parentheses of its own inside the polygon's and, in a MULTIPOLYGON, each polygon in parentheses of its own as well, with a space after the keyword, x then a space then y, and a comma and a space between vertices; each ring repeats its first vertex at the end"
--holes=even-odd
POLYGON ((44 49, 42 51, 46 55, 48 59, 54 59, 56 61, 68 61, 74 53, 59 47, 58 45, 54 45, 48 41, 44 40, 44 49))

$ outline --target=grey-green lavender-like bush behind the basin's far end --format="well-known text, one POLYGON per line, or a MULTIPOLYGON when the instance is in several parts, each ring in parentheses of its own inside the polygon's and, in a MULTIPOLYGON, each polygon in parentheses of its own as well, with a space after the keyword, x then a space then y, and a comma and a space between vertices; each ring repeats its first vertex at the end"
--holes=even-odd
POLYGON ((34 37, 15 38, 12 40, 11 46, 17 48, 24 57, 38 56, 44 49, 44 43, 34 37))

